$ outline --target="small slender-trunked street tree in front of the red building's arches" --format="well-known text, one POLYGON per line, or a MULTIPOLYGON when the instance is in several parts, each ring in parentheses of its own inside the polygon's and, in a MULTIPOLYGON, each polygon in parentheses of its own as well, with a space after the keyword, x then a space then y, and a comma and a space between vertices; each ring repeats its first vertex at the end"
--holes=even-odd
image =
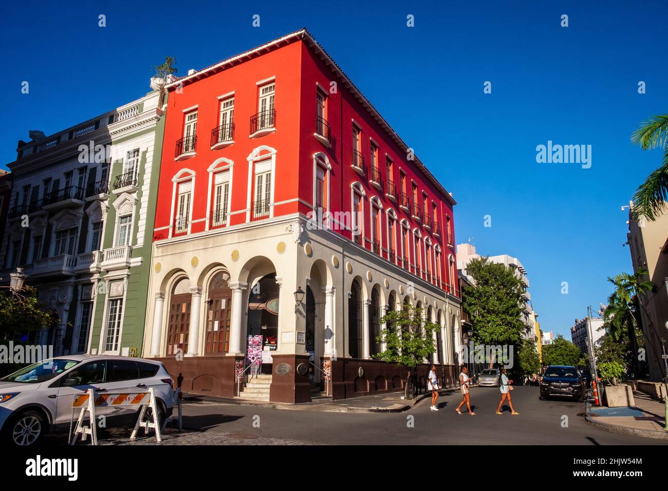
MULTIPOLYGON (((422 309, 407 303, 399 311, 388 312, 380 321, 386 327, 381 329, 376 340, 385 343, 385 351, 376 356, 383 361, 407 367, 410 379, 411 374, 415 373, 415 367, 430 359, 430 355, 436 351, 433 335, 440 332, 440 326, 426 321, 422 309)), ((408 384, 405 385, 405 396, 408 397, 408 384)))

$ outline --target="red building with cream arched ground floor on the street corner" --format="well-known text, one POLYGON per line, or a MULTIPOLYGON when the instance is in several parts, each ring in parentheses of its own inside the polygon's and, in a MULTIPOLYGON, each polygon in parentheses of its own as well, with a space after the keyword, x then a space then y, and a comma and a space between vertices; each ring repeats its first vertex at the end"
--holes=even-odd
MULTIPOLYGON (((196 383, 206 373, 206 387, 232 395, 230 359, 237 367, 247 359, 251 311, 262 305, 263 316, 277 315, 276 336, 261 334, 263 343, 277 338, 262 363, 272 400, 305 399, 305 388, 293 399, 281 389, 300 377, 334 397, 391 391, 403 381, 374 359, 382 349, 375 335, 382 314, 408 301, 444 327, 434 361, 456 362, 455 202, 307 31, 190 73, 168 90, 154 230, 156 305, 145 355, 168 358, 181 350, 201 360, 189 361, 197 373, 185 377, 185 391, 206 392, 196 383), (212 311, 216 271, 231 301, 212 311), (174 286, 178 277, 187 289, 174 286), (284 292, 269 299, 277 312, 269 301, 253 301, 268 279, 271 288, 263 289, 275 282, 284 292), (299 302, 303 319, 288 312, 293 286, 295 293, 307 288, 299 302), (184 307, 171 301, 178 295, 191 295, 188 313, 177 312, 180 327, 173 311, 184 307), (224 371, 206 358, 212 315, 228 319, 216 352, 224 371), (283 382, 271 368, 281 357, 294 368, 283 382), (383 375, 359 380, 357 370, 349 380, 347 359, 383 375), (308 375, 298 373, 300 360, 308 375)), ((258 322, 266 330, 264 319, 258 322)))

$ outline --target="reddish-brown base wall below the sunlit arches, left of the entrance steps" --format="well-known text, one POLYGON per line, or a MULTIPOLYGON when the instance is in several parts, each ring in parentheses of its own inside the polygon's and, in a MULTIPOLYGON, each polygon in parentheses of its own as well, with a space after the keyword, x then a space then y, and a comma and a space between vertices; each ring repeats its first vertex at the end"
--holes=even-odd
POLYGON ((176 387, 182 392, 218 397, 234 397, 234 362, 243 357, 198 356, 184 357, 181 361, 174 358, 156 358, 162 361, 176 387))

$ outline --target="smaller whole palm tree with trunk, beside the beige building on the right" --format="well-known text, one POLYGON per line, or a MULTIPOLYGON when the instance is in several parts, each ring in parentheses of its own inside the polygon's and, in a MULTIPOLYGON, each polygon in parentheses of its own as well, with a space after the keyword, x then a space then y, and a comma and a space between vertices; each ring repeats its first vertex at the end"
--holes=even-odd
POLYGON ((610 335, 619 341, 623 331, 629 333, 631 349, 633 350, 633 366, 635 373, 638 373, 638 341, 635 337, 635 328, 639 325, 639 294, 650 292, 655 285, 649 280, 644 280, 643 276, 647 271, 641 269, 629 275, 620 273, 614 278, 608 278, 608 281, 615 285, 615 291, 608 297, 608 307, 605 309, 603 318, 608 323, 610 335))

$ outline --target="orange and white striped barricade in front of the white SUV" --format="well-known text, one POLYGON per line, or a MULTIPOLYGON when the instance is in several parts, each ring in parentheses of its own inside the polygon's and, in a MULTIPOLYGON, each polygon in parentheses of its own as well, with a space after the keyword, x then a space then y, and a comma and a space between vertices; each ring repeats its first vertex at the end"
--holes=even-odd
POLYGON ((140 405, 141 410, 139 413, 139 418, 137 419, 136 424, 134 425, 134 430, 132 430, 132 435, 130 440, 134 440, 137 436, 137 431, 140 427, 144 428, 144 432, 148 434, 148 430, 153 428, 156 432, 156 440, 158 443, 162 442, 162 434, 160 424, 158 424, 157 415, 158 415, 158 404, 156 401, 156 395, 153 390, 153 387, 148 389, 148 392, 135 392, 135 393, 95 393, 94 389, 88 389, 88 392, 81 395, 75 395, 74 400, 72 401, 72 409, 76 410, 81 408, 79 413, 79 419, 77 420, 77 426, 72 434, 72 438, 69 442, 70 445, 73 445, 77 441, 77 435, 81 434, 81 441, 86 440, 86 435, 90 435, 93 440, 93 445, 98 444, 98 434, 97 434, 97 424, 95 416, 96 407, 120 407, 127 405, 140 405), (144 421, 144 416, 146 416, 146 410, 151 410, 150 420, 144 421), (84 424, 83 420, 86 417, 88 412, 89 424, 88 426, 84 424))

